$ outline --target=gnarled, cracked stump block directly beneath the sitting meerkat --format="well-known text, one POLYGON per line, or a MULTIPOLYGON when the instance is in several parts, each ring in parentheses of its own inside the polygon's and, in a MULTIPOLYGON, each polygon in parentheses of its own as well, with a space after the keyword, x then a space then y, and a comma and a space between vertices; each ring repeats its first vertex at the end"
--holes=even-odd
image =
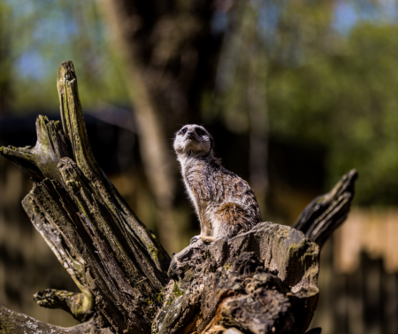
POLYGON ((302 232, 272 222, 189 245, 172 259, 152 333, 304 333, 318 302, 318 257, 302 232))

